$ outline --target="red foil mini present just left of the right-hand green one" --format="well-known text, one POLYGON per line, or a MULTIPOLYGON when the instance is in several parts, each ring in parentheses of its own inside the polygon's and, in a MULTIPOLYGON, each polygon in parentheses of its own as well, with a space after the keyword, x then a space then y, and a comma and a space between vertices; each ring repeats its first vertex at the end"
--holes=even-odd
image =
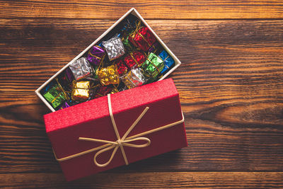
POLYGON ((143 53, 139 51, 130 52, 127 57, 125 57, 125 64, 130 69, 137 68, 141 66, 142 63, 146 61, 146 57, 143 53))

